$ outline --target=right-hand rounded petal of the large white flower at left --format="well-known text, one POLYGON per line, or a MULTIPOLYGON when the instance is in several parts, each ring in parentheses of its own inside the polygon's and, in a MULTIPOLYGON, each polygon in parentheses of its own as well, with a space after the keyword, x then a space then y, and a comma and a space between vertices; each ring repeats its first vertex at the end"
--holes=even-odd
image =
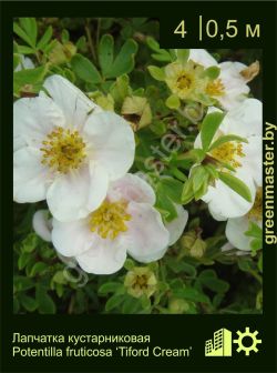
POLYGON ((109 173, 111 180, 123 177, 134 161, 134 133, 129 123, 112 112, 91 115, 84 134, 92 144, 92 159, 109 173))

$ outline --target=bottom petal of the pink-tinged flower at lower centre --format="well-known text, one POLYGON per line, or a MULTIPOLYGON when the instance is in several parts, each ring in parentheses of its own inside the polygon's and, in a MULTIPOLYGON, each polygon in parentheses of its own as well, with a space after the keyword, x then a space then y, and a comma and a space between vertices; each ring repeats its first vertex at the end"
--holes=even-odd
POLYGON ((94 274, 117 272, 126 260, 126 248, 121 240, 100 240, 98 245, 76 256, 82 270, 94 274))

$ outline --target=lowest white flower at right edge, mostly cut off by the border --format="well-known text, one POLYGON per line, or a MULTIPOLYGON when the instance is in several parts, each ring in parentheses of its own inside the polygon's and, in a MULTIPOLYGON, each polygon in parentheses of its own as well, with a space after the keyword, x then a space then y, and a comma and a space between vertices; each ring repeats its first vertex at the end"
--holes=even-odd
POLYGON ((252 250, 250 243, 253 238, 245 234, 249 230, 250 222, 261 228, 261 188, 258 188, 255 203, 252 210, 240 218, 228 219, 226 224, 226 236, 230 244, 239 250, 252 250))

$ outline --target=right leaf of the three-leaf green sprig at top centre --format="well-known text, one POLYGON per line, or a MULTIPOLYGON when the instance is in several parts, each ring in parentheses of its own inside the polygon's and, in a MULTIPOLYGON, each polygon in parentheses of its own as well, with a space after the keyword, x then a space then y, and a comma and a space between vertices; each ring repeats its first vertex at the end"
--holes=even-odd
POLYGON ((129 73, 134 69, 134 57, 137 52, 137 43, 133 39, 129 39, 122 46, 120 53, 116 56, 106 78, 116 78, 124 73, 129 73))

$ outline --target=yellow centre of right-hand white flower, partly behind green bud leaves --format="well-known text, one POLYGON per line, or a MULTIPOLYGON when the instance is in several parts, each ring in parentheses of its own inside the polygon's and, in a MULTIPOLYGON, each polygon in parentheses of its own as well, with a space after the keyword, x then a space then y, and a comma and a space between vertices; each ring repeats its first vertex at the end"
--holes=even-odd
POLYGON ((239 159, 245 157, 243 145, 240 143, 229 141, 212 150, 211 154, 216 160, 228 163, 234 169, 242 167, 239 159))

